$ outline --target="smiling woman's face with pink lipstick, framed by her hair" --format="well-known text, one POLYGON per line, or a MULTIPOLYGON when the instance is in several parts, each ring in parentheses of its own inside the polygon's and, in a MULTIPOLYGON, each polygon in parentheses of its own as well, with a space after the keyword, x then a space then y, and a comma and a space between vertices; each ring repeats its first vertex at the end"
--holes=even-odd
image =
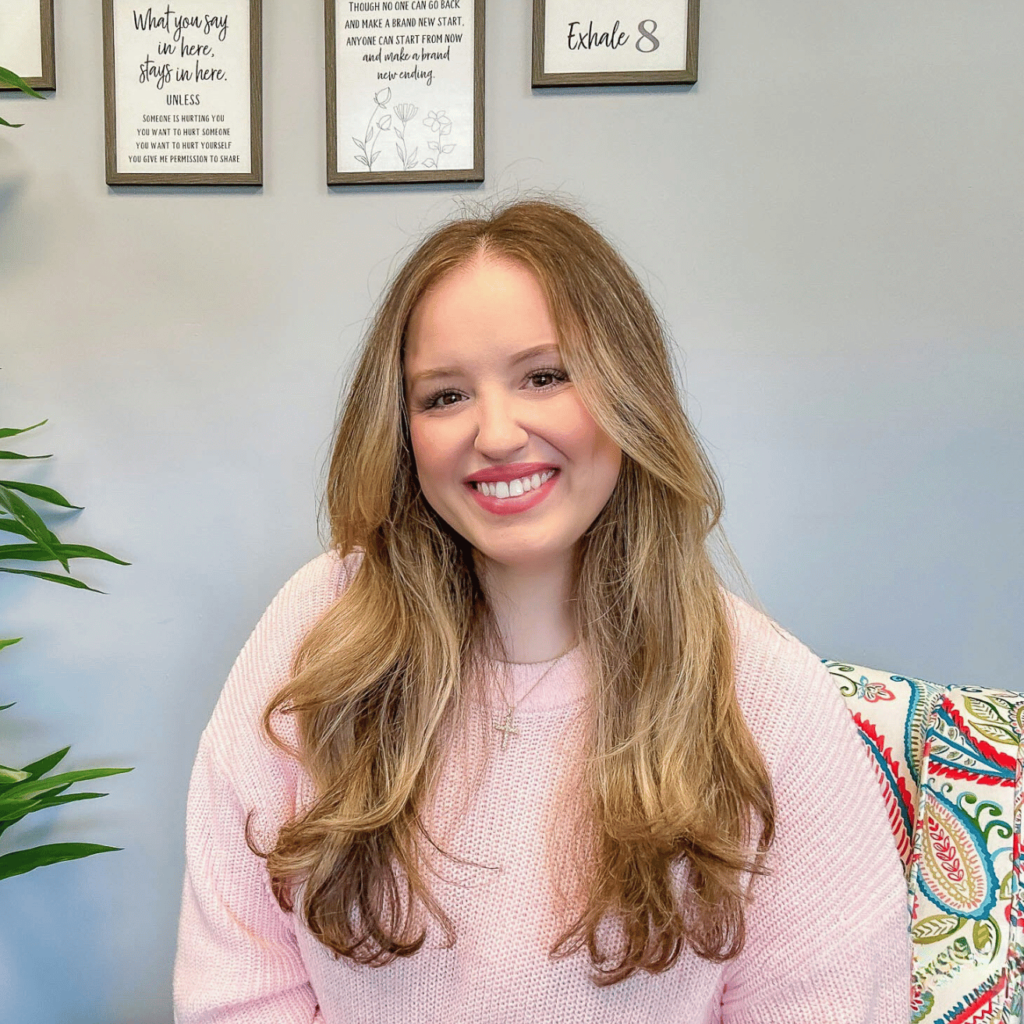
POLYGON ((567 562, 622 465, 568 380, 556 339, 537 278, 487 257, 429 289, 407 331, 406 401, 423 494, 480 555, 510 568, 567 562))

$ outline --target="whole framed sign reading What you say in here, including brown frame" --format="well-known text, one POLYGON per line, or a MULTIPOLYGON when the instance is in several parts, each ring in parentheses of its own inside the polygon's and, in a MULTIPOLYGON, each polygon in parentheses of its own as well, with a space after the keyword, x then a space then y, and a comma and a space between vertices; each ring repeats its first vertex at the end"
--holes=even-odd
POLYGON ((106 183, 263 180, 261 0, 103 0, 106 183))

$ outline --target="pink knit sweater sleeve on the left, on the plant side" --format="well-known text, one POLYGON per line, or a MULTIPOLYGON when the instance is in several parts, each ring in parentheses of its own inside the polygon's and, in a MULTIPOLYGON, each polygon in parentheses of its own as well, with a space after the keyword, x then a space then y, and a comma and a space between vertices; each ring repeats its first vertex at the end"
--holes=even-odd
MULTIPOLYGON (((308 799, 297 762, 263 736, 260 718, 291 675, 302 638, 353 574, 358 556, 321 555, 260 618, 200 740, 188 788, 185 878, 174 965, 176 1024, 312 1024, 323 1018, 266 861, 278 830, 308 799)), ((278 731, 294 742, 294 722, 278 731)))

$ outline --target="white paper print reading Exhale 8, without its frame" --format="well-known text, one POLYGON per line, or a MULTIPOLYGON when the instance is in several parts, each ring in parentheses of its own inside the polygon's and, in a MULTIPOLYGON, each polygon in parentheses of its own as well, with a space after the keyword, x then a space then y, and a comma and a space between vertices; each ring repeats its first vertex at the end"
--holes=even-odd
POLYGON ((545 0, 544 71, 678 71, 686 67, 685 0, 545 0))

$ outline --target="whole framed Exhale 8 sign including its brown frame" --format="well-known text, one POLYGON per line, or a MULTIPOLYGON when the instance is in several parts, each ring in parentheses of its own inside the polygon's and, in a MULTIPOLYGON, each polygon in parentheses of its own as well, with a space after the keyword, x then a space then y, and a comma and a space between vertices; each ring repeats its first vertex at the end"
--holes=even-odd
POLYGON ((534 0, 534 87, 697 80, 698 0, 534 0))

